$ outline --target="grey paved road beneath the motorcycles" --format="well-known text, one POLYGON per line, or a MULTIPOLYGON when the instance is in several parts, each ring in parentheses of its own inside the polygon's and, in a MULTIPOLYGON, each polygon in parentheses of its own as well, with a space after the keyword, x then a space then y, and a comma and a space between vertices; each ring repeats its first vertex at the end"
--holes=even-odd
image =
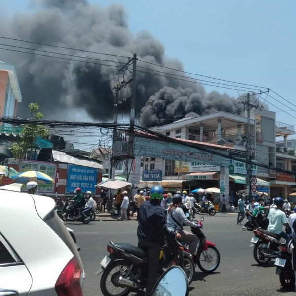
MULTIPOLYGON (((207 239, 216 243, 221 255, 221 263, 213 274, 204 274, 196 266, 190 296, 290 296, 280 286, 275 274, 275 267, 258 266, 253 258, 253 248, 249 241, 253 232, 242 231, 236 224, 236 214, 218 213, 215 216, 205 215, 203 222, 207 239)), ((85 296, 102 296, 100 276, 95 272, 99 262, 107 254, 106 244, 127 242, 137 244, 136 221, 95 221, 88 225, 79 222, 65 222, 76 234, 81 247, 86 278, 85 296)), ((143 296, 142 293, 138 293, 143 296)))

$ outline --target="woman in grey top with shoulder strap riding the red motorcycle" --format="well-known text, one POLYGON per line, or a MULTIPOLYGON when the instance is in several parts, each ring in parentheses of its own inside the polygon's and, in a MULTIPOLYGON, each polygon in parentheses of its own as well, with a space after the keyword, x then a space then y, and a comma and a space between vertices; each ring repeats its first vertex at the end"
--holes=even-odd
MULTIPOLYGON (((193 255, 196 252, 198 237, 193 233, 185 231, 182 226, 187 225, 196 228, 201 227, 201 225, 195 224, 186 218, 183 210, 180 208, 182 204, 182 196, 180 194, 173 195, 172 199, 173 204, 168 208, 167 227, 173 228, 176 232, 181 234, 181 239, 183 241, 191 243, 189 253, 193 255)), ((196 263, 196 258, 193 258, 193 261, 196 263)))

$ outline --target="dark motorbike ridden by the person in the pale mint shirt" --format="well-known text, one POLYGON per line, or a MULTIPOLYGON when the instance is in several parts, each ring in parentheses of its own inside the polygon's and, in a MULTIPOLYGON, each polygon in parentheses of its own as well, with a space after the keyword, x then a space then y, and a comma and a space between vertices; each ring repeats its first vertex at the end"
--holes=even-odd
POLYGON ((278 256, 279 246, 284 246, 286 240, 279 235, 263 229, 254 229, 250 247, 254 247, 253 256, 259 265, 266 265, 278 256))

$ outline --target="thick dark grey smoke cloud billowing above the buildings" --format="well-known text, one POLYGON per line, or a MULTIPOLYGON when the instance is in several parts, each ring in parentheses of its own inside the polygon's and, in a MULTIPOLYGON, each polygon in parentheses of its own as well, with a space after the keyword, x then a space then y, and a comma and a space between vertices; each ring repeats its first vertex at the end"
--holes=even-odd
MULTIPOLYGON (((165 57, 163 45, 150 33, 140 32, 137 36, 131 33, 122 5, 102 8, 90 5, 86 0, 34 0, 32 3, 35 5, 32 13, 1 18, 0 36, 69 49, 5 39, 0 39, 1 43, 31 47, 35 49, 31 52, 36 54, 42 54, 36 51, 39 49, 59 51, 75 57, 64 56, 69 60, 62 60, 0 50, 0 60, 14 64, 17 69, 23 96, 22 107, 19 109, 21 116, 27 115, 27 106, 30 102, 37 102, 47 119, 76 120, 75 113, 71 112, 75 110, 79 113, 86 111, 89 117, 85 120, 112 120, 113 87, 114 83, 118 82, 116 81, 118 68, 99 65, 108 62, 89 60, 89 58, 113 60, 118 66, 120 63, 115 57, 91 52, 125 57, 132 57, 133 53, 137 53, 139 59, 183 70, 180 61, 165 57), (89 62, 94 63, 74 61, 74 59, 81 60, 78 56, 88 58, 89 62)), ((0 47, 7 48, 4 45, 0 47)), ((127 62, 126 58, 119 59, 121 63, 127 62)), ((198 84, 171 79, 168 74, 154 72, 156 70, 173 73, 167 69, 163 70, 160 66, 140 61, 138 66, 149 68, 147 70, 139 67, 137 72, 136 114, 142 109, 140 122, 143 126, 166 124, 185 116, 198 116, 219 110, 238 112, 237 106, 231 107, 237 102, 236 99, 227 94, 217 92, 207 94, 198 84), (144 110, 143 106, 151 96, 154 103, 144 110)), ((125 75, 124 78, 129 80, 131 74, 127 74, 129 76, 125 75)), ((122 81, 122 77, 119 80, 122 81)), ((120 98, 130 96, 129 87, 120 93, 120 98)), ((128 114, 129 108, 127 102, 120 106, 120 111, 128 114)))

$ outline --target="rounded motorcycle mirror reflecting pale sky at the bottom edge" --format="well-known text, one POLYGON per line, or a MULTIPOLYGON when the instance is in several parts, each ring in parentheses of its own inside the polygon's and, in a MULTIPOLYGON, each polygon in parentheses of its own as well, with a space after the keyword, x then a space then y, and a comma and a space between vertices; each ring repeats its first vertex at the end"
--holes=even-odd
POLYGON ((188 277, 179 266, 172 266, 167 269, 151 292, 151 296, 188 296, 188 294, 188 277))

